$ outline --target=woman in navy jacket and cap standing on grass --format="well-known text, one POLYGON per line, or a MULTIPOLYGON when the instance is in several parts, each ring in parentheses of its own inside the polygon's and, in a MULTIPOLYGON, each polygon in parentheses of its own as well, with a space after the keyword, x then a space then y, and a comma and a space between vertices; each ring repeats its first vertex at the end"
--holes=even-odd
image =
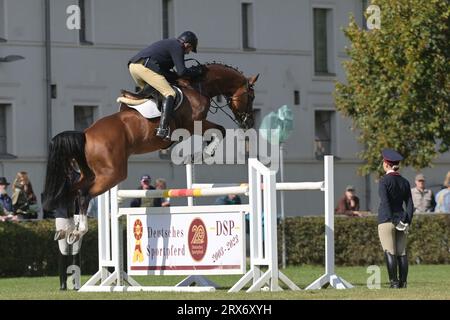
POLYGON ((386 175, 380 179, 378 188, 378 235, 386 258, 390 287, 406 288, 406 234, 414 211, 411 187, 408 180, 398 173, 399 162, 403 157, 392 149, 384 149, 382 155, 386 175))

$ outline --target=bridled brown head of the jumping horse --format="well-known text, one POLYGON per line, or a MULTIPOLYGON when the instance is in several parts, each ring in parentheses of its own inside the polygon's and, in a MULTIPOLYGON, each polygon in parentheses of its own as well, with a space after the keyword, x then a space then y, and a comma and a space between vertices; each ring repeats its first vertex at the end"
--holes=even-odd
POLYGON ((252 128, 255 124, 253 116, 253 101, 255 100, 255 90, 253 88, 259 74, 246 78, 243 85, 228 97, 230 109, 233 111, 239 127, 243 129, 252 128))

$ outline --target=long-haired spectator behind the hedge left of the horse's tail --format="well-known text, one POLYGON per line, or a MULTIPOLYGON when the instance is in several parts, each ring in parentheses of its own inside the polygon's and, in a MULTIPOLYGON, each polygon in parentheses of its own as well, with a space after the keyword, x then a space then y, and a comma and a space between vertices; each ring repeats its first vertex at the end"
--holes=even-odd
POLYGON ((13 188, 12 204, 14 214, 22 219, 36 219, 38 212, 36 195, 25 171, 17 173, 13 182, 13 188))

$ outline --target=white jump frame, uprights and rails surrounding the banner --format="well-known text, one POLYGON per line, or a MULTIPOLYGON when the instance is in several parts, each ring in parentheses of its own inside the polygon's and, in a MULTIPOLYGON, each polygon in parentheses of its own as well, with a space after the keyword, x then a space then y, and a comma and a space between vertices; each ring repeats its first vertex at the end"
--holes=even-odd
MULTIPOLYGON (((197 283, 205 286, 186 286, 192 281, 189 277, 176 286, 141 286, 124 270, 123 239, 119 218, 129 218, 136 214, 214 214, 220 212, 248 212, 250 217, 250 270, 229 290, 238 292, 250 283, 247 292, 255 292, 267 286, 270 291, 282 290, 279 281, 291 290, 300 290, 278 268, 277 252, 277 190, 321 190, 325 193, 325 274, 306 289, 318 289, 328 284, 344 289, 352 286, 335 274, 334 271, 334 190, 333 157, 325 157, 325 178, 321 182, 276 183, 275 172, 270 171, 256 159, 249 159, 248 184, 218 188, 190 188, 169 190, 117 190, 111 189, 99 197, 99 271, 79 290, 81 292, 126 292, 126 291, 214 291, 214 286, 201 277, 204 272, 196 270, 193 276, 197 283), (119 208, 118 197, 124 198, 160 198, 160 197, 208 197, 227 194, 248 194, 249 203, 233 206, 194 206, 190 200, 188 206, 168 208, 119 208), (266 269, 264 272, 262 269, 266 269), (112 269, 112 270, 111 270, 112 269), (197 277, 197 278, 195 278, 197 277)), ((192 186, 192 177, 188 177, 188 186, 192 186), (189 181, 190 180, 190 181, 189 181)), ((242 215, 243 216, 243 215, 242 215)), ((129 235, 127 236, 129 237, 129 235)), ((245 237, 245 233, 244 233, 245 237)), ((245 250, 245 249, 244 249, 245 250)), ((245 257, 245 251, 244 251, 245 257)), ((245 259, 244 259, 245 261, 245 259)), ((161 273, 164 274, 164 273, 161 273)), ((191 278, 192 280, 192 278, 191 278)))

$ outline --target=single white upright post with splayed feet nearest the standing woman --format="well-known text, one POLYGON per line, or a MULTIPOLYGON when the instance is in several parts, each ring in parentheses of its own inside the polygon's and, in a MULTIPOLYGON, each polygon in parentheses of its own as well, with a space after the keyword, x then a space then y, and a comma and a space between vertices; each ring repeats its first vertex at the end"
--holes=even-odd
POLYGON ((353 286, 337 276, 334 270, 334 172, 333 156, 325 156, 325 274, 311 283, 305 290, 321 289, 331 285, 336 289, 353 286))

